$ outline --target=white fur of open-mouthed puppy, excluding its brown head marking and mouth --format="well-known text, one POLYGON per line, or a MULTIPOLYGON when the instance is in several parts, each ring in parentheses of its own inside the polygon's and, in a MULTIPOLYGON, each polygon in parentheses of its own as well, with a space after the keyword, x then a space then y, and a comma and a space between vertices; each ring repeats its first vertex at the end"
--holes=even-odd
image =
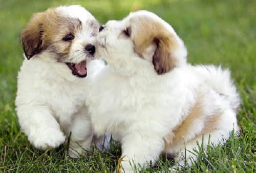
MULTIPOLYGON (((87 98, 85 91, 88 90, 85 84, 87 78, 73 75, 64 62, 78 63, 87 59, 84 45, 94 39, 94 29, 89 23, 96 19, 81 6, 60 6, 50 9, 46 13, 48 12, 71 17, 74 20, 78 18, 82 28, 73 33, 75 39, 72 40, 68 56, 62 60, 63 62, 58 62, 56 52, 49 51, 51 45, 33 55, 31 59, 25 57, 18 73, 15 100, 17 116, 20 127, 36 148, 58 147, 65 142, 71 132, 69 155, 78 157, 83 153, 82 148, 90 149, 93 138, 93 129, 85 106, 87 98)), ((54 17, 50 16, 49 20, 54 17)), ((31 24, 37 25, 33 24, 38 22, 37 20, 32 21, 31 24)), ((65 22, 62 21, 63 25, 68 26, 69 24, 65 24, 65 22)), ((48 23, 43 23, 43 25, 48 25, 48 23)), ((96 30, 98 31, 98 28, 96 30)), ((67 32, 69 34, 68 28, 67 32)), ((67 44, 61 40, 65 35, 60 35, 60 33, 57 31, 57 33, 53 33, 54 38, 51 37, 51 39, 56 39, 57 36, 60 36, 60 40, 54 40, 59 46, 67 44)), ((44 44, 44 40, 42 42, 44 44)))

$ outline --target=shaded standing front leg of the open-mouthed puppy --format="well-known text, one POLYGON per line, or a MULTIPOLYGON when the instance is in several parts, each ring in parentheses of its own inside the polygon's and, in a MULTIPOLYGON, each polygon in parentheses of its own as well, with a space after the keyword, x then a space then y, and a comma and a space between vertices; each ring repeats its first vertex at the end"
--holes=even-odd
POLYGON ((93 130, 86 109, 82 109, 80 112, 74 115, 71 126, 66 131, 67 134, 71 132, 70 144, 69 144, 69 156, 72 158, 78 158, 86 150, 91 149, 93 130))

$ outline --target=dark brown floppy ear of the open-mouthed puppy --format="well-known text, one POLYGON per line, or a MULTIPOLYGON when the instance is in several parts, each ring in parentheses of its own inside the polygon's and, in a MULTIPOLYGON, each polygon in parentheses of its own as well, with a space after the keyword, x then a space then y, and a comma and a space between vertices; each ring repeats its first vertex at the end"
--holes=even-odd
POLYGON ((42 34, 44 30, 44 13, 36 13, 27 27, 20 33, 24 53, 28 59, 42 50, 42 34))

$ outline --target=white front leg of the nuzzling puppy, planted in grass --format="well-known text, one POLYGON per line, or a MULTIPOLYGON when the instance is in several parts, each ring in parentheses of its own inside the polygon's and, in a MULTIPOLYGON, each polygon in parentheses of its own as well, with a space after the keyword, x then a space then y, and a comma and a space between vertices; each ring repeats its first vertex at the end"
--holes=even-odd
POLYGON ((144 136, 143 134, 130 134, 122 139, 120 172, 137 172, 141 167, 156 163, 163 150, 163 140, 157 136, 144 136), (122 170, 121 170, 122 169, 122 170), (136 171, 137 170, 137 171, 136 171))

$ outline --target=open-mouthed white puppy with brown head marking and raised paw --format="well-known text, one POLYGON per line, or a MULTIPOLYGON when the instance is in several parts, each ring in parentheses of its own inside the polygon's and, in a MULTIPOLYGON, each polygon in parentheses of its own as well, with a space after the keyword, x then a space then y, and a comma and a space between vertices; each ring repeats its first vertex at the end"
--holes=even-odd
POLYGON ((22 30, 25 59, 18 73, 16 112, 36 148, 58 147, 70 139, 69 155, 90 149, 92 125, 87 98, 87 58, 99 31, 94 16, 79 5, 36 13, 22 30))

